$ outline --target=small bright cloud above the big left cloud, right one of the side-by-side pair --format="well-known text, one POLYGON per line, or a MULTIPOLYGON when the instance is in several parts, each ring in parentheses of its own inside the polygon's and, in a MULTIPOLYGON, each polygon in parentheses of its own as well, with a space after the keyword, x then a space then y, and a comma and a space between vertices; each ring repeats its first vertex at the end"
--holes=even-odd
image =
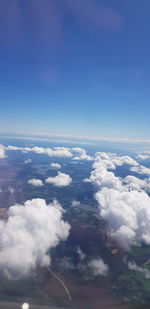
POLYGON ((72 178, 68 174, 58 172, 55 177, 48 177, 46 183, 52 184, 55 187, 66 187, 72 182, 72 178))

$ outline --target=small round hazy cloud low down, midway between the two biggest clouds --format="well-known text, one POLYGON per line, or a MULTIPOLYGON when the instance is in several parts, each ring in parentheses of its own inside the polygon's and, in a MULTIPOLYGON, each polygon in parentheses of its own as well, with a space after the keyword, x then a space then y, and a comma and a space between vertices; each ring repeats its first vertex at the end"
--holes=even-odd
POLYGON ((93 259, 89 262, 88 266, 91 268, 94 276, 104 276, 108 274, 108 265, 104 263, 101 258, 93 259))

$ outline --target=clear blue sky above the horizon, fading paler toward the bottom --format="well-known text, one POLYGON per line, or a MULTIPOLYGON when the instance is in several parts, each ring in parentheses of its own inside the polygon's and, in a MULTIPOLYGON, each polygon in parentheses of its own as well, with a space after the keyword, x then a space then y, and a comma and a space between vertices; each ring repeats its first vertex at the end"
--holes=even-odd
POLYGON ((0 130, 150 138, 149 0, 1 0, 0 130))

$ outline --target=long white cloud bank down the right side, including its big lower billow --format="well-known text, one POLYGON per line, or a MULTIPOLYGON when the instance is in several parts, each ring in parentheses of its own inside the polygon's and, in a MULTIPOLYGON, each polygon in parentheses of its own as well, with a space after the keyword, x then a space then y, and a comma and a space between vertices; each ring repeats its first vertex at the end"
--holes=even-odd
MULTIPOLYGON (((108 222, 108 234, 120 246, 150 244, 150 178, 117 177, 109 169, 123 164, 141 166, 130 157, 97 153, 89 181, 94 184, 101 216, 108 222)), ((142 169, 144 167, 142 166, 142 169)))

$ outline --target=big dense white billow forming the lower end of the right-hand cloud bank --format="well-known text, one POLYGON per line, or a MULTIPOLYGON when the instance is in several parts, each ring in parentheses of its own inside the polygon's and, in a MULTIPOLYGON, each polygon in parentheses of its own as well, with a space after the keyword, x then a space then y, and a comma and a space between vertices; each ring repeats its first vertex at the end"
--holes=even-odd
POLYGON ((150 197, 145 192, 103 188, 96 193, 100 214, 109 233, 128 249, 131 244, 150 244, 150 197))

